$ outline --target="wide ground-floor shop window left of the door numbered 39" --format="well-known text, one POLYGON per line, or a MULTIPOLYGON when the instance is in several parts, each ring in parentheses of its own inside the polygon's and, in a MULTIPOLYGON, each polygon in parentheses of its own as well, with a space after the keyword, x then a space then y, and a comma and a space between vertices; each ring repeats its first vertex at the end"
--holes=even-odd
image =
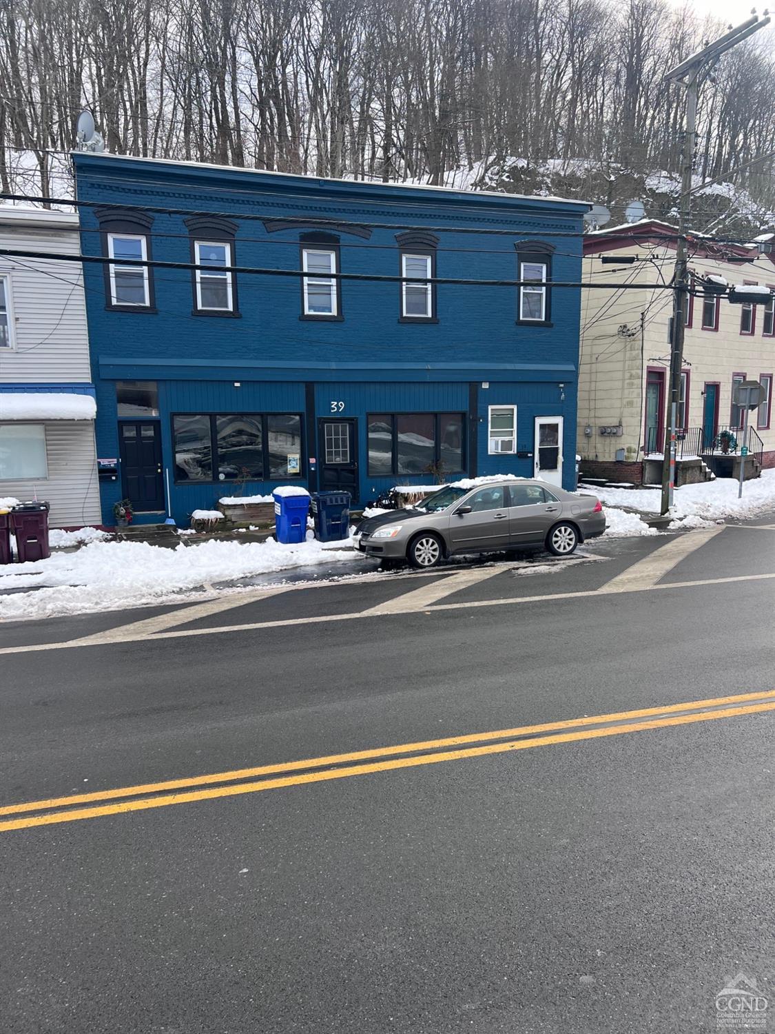
POLYGON ((177 483, 302 477, 300 414, 176 414, 173 442, 177 483))

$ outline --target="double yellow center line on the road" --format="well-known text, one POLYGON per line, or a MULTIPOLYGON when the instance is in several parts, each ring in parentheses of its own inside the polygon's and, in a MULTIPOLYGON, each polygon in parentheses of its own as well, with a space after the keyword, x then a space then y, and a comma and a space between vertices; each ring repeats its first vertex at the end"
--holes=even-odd
POLYGON ((740 714, 768 710, 775 710, 775 690, 694 700, 665 707, 646 707, 612 714, 587 716, 565 722, 547 722, 542 725, 526 725, 515 729, 497 729, 465 736, 450 736, 445 739, 399 743, 350 754, 331 754, 303 761, 238 768, 234 771, 166 780, 163 783, 145 783, 115 790, 98 790, 69 797, 52 797, 48 800, 32 800, 0 808, 0 816, 16 816, 10 819, 0 819, 0 831, 75 822, 80 819, 95 819, 125 812, 143 812, 151 808, 188 804, 216 797, 235 797, 244 793, 259 793, 262 790, 277 790, 287 786, 347 779, 350 776, 413 768, 420 765, 438 764, 441 761, 459 761, 462 758, 476 758, 487 754, 525 751, 532 747, 569 743, 580 739, 596 739, 600 736, 616 736, 626 732, 662 729, 693 722, 710 722, 715 719, 736 718, 740 714), (464 746, 468 743, 478 746, 464 746), (352 762, 360 763, 352 764, 352 762))

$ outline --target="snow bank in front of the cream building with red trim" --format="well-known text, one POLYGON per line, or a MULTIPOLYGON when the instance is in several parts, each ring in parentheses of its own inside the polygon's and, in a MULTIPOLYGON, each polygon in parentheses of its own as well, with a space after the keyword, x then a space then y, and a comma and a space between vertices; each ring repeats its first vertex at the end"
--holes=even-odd
MULTIPOLYGON (((633 507, 647 513, 659 513, 661 504, 659 488, 627 489, 582 485, 580 491, 586 495, 596 495, 603 506, 633 507)), ((700 485, 677 488, 671 516, 676 520, 702 517, 707 521, 719 521, 730 517, 754 517, 770 510, 775 510, 775 469, 763 470, 761 478, 746 481, 742 499, 738 498, 738 482, 732 478, 717 478, 700 485)))

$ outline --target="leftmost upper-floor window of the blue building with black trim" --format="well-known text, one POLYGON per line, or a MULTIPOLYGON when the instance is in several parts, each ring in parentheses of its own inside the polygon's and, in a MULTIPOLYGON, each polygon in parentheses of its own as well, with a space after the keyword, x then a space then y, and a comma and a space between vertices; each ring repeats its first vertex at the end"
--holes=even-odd
POLYGON ((124 312, 151 311, 154 307, 153 270, 131 265, 151 262, 150 229, 146 212, 97 208, 94 214, 102 237, 102 253, 114 260, 104 266, 107 308, 124 312))

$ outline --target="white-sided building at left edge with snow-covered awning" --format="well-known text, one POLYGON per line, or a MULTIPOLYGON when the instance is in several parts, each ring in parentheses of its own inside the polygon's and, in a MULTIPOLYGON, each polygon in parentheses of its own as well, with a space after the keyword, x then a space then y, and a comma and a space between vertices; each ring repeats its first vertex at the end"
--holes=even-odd
MULTIPOLYGON (((0 207, 0 247, 78 254, 78 216, 0 207)), ((81 264, 0 255, 0 498, 99 523, 94 414, 81 264)))

